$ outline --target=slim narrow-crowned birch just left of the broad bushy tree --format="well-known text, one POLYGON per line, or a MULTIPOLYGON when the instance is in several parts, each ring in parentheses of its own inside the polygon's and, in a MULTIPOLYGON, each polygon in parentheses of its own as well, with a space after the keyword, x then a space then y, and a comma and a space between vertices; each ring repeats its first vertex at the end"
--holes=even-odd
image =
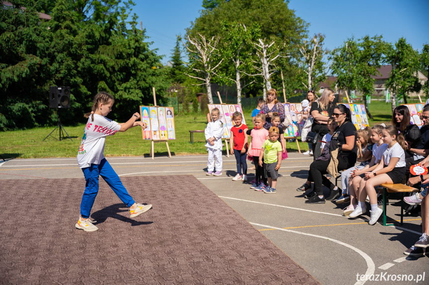
POLYGON ((307 81, 302 81, 302 85, 307 90, 315 90, 320 81, 326 79, 326 66, 323 57, 328 54, 328 50, 323 48, 325 35, 315 34, 310 40, 304 40, 302 45, 298 45, 302 55, 302 70, 307 75, 307 81))

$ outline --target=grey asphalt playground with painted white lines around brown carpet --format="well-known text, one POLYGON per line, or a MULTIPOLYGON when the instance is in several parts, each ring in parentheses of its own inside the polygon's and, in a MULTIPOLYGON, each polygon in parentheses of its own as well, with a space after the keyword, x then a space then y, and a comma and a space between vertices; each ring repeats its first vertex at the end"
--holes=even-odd
MULTIPOLYGON (((107 160, 122 177, 193 175, 321 284, 429 284, 429 253, 419 258, 403 254, 421 235, 421 218, 405 216, 401 226, 399 222, 395 222, 396 226, 382 226, 380 219, 369 226, 368 215, 358 219, 344 217, 341 209, 345 205, 329 201, 305 204, 304 195, 295 189, 305 181, 312 157, 289 153, 289 158, 282 161, 275 194, 257 192, 249 188, 249 183, 232 181, 236 174, 233 156, 224 155, 223 175, 217 177, 205 175, 204 155, 107 160), (362 275, 367 279, 372 276, 373 280, 358 280, 362 275), (411 281, 403 281, 404 276, 411 281)), ((250 162, 248 166, 252 167, 250 162)), ((83 178, 83 173, 76 158, 0 162, 0 179, 27 179, 31 187, 32 179, 51 178, 83 178)), ((249 171, 249 178, 254 178, 254 171, 249 171)), ((340 183, 339 180, 339 186, 340 183)), ((130 189, 131 195, 133 191, 156 189, 130 189)), ((388 221, 400 220, 400 209, 400 201, 391 199, 388 221)))

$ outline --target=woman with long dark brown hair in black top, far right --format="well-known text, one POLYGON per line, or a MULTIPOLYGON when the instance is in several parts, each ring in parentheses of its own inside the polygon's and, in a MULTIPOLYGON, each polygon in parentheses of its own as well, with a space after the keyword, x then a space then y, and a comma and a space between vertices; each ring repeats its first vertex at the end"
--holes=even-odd
MULTIPOLYGON (((408 107, 400 105, 395 108, 392 116, 392 125, 396 126, 405 137, 405 147, 407 149, 416 148, 420 143, 420 128, 411 124, 411 115, 408 107)), ((414 153, 405 152, 405 159, 413 157, 414 153)), ((423 157, 422 157, 423 158, 423 157)))

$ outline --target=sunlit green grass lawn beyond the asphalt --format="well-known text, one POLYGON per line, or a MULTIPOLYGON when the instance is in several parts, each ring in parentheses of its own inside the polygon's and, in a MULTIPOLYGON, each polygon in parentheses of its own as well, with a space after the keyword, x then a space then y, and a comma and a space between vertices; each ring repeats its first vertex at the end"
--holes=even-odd
MULTIPOLYGON (((388 123, 392 117, 390 104, 372 101, 369 111, 374 116, 369 120, 371 125, 376 123, 388 123)), ((245 117, 249 123, 251 112, 245 111, 245 117)), ((176 139, 169 141, 172 155, 206 154, 203 133, 194 133, 194 144, 189 143, 189 130, 204 130, 206 126, 205 114, 176 115, 174 118, 176 139)), ((84 124, 78 126, 64 126, 67 133, 73 139, 58 141, 53 138, 43 139, 54 129, 52 127, 33 128, 30 130, 17 130, 0 132, 0 154, 7 158, 49 158, 49 157, 76 157, 82 136, 84 124)), ((53 133, 58 138, 58 132, 53 133)), ((299 140, 302 151, 308 150, 307 143, 299 140)), ((287 142, 288 151, 297 151, 295 142, 287 142)), ((142 139, 140 127, 134 127, 126 132, 118 132, 107 137, 104 149, 105 156, 149 156, 151 141, 142 139)), ((167 155, 167 146, 164 142, 155 143, 155 155, 167 155)))

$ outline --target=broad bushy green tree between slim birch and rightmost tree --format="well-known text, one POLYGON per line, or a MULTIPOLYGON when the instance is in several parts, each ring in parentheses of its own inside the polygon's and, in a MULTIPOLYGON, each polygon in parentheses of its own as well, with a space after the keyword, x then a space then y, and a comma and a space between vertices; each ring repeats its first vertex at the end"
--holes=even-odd
POLYGON ((374 93, 374 76, 383 63, 386 43, 381 36, 364 36, 359 40, 348 39, 343 46, 331 52, 332 71, 337 74, 337 84, 345 90, 357 89, 363 94, 366 113, 368 111, 366 96, 374 93))

